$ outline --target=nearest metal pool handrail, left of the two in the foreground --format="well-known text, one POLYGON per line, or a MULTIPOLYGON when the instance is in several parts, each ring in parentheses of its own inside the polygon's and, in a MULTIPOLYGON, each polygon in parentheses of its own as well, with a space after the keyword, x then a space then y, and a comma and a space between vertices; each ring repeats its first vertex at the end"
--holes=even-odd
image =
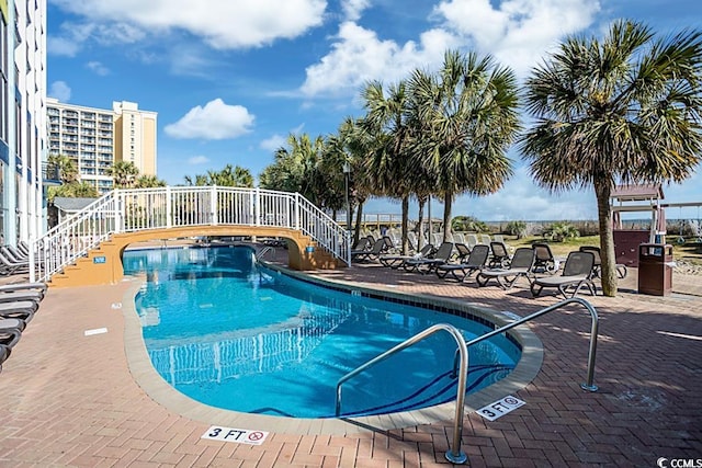
POLYGON ((463 464, 468 459, 467 455, 461 452, 461 438, 463 433, 463 402, 465 400, 465 385, 466 385, 466 379, 468 374, 467 372, 468 370, 468 349, 466 346, 465 339, 463 338, 461 332, 451 324, 437 323, 435 326, 431 326, 427 330, 417 333, 416 335, 409 338, 408 340, 405 340, 400 344, 392 347, 390 350, 384 352, 383 354, 375 356, 367 363, 362 364, 361 366, 351 370, 349 374, 341 377, 337 383, 336 415, 337 418, 339 418, 339 414, 341 414, 341 385, 343 383, 359 375, 360 373, 367 369, 369 367, 382 361, 385 361, 390 355, 399 351, 403 351, 406 347, 409 347, 420 342, 421 340, 426 339, 427 336, 440 331, 449 332, 453 336, 453 339, 456 341, 456 344, 458 345, 458 350, 456 351, 456 353, 460 354, 460 359, 461 359, 460 361, 461 369, 460 369, 458 383, 457 383, 458 389, 456 395, 456 410, 455 410, 455 418, 453 423, 453 444, 452 444, 453 448, 446 452, 445 456, 446 456, 446 459, 451 463, 463 464))

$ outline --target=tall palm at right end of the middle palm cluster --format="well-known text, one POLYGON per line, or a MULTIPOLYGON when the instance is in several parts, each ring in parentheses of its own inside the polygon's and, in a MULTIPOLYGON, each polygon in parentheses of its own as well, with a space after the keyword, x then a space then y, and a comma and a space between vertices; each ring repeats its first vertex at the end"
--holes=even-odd
POLYGON ((450 241, 453 198, 497 192, 511 175, 506 152, 520 127, 517 79, 490 56, 449 50, 438 73, 416 70, 409 87, 412 155, 443 198, 450 241))

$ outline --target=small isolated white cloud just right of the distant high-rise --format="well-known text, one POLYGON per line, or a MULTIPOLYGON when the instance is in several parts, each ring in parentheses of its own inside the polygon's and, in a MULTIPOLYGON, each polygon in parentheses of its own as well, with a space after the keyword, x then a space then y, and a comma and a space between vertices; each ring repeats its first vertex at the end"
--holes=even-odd
POLYGON ((173 138, 228 139, 249 133, 253 118, 246 107, 215 99, 204 107, 191 109, 180 121, 167 125, 165 130, 173 138))

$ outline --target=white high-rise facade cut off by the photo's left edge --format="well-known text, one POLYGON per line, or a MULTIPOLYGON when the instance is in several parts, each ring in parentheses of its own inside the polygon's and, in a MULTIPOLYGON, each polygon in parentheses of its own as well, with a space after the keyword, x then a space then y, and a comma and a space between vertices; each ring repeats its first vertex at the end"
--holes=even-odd
POLYGON ((0 0, 0 233, 10 244, 46 229, 45 109, 46 0, 0 0))

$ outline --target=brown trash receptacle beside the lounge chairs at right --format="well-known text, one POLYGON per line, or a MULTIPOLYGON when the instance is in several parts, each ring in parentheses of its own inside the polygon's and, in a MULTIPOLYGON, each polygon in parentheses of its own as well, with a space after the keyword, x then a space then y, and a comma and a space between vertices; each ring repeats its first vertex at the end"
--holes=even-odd
POLYGON ((666 296, 672 290, 672 246, 638 246, 638 293, 666 296))

